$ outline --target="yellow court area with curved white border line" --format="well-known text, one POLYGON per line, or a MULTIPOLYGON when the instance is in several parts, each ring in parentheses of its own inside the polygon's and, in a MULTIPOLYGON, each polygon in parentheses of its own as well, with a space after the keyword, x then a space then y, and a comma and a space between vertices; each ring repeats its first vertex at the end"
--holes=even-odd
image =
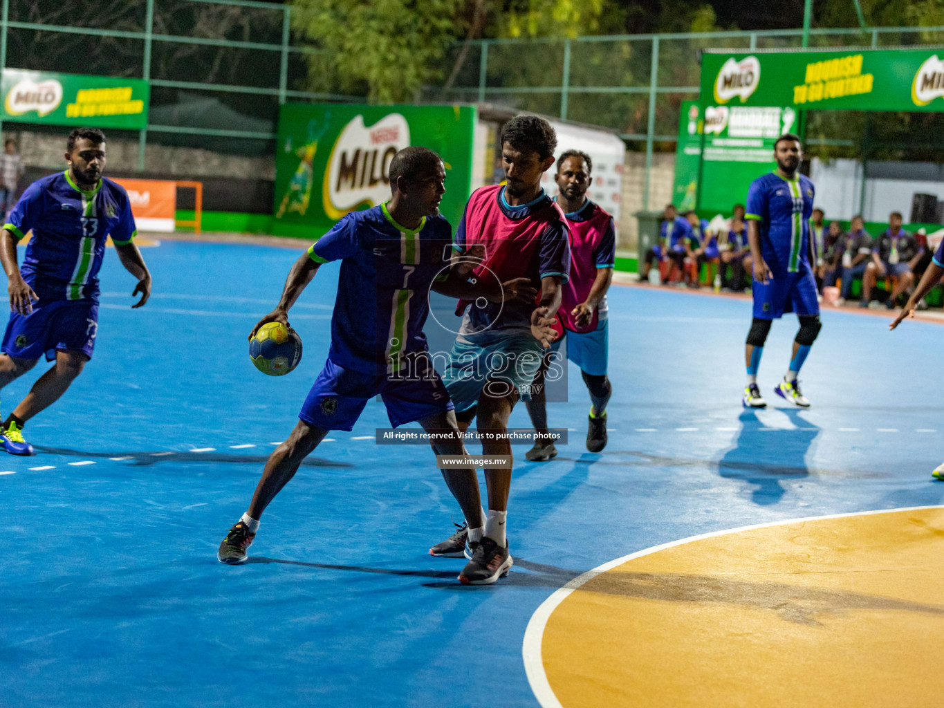
POLYGON ((944 704, 942 507, 725 531, 604 568, 531 619, 545 708, 944 704))

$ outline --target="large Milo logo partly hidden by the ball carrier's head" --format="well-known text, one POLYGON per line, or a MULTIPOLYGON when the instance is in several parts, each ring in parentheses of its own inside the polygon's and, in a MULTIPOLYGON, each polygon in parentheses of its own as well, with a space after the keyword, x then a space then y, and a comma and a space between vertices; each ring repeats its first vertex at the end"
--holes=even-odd
POLYGON ((400 113, 389 113, 373 126, 356 115, 341 131, 325 171, 325 213, 340 219, 359 206, 390 198, 390 160, 410 144, 410 126, 400 113))

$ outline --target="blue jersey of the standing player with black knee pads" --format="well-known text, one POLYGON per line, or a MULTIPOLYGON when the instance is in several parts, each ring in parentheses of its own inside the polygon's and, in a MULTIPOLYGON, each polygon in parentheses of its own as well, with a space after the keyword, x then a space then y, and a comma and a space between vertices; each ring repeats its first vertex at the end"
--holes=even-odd
POLYGON ((775 172, 757 177, 748 190, 747 218, 758 223, 761 255, 774 277, 797 273, 810 265, 810 217, 813 182, 797 175, 784 179, 775 172))

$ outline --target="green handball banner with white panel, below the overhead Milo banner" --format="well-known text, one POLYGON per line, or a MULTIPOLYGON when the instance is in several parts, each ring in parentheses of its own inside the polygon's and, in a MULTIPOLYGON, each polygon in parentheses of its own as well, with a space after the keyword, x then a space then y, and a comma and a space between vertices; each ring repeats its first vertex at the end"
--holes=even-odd
POLYGON ((747 199, 750 182, 776 167, 773 143, 784 133, 796 131, 797 111, 790 107, 702 109, 694 101, 684 102, 673 204, 680 211, 698 209, 730 216, 733 205, 747 199))

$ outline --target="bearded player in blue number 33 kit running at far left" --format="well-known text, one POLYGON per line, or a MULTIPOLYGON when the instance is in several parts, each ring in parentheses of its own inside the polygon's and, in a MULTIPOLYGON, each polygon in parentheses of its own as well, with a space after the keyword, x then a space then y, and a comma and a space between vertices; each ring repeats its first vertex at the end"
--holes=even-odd
POLYGON ((0 231, 0 261, 8 278, 9 317, 0 354, 0 388, 39 361, 56 363, 33 384, 3 423, 0 445, 31 455, 23 427, 66 392, 92 359, 98 330, 98 270, 108 236, 138 284, 140 308, 151 295, 151 275, 134 244, 137 231, 127 193, 102 177, 105 135, 96 128, 69 134, 69 168, 26 188, 0 231), (23 266, 16 244, 32 231, 23 266))

